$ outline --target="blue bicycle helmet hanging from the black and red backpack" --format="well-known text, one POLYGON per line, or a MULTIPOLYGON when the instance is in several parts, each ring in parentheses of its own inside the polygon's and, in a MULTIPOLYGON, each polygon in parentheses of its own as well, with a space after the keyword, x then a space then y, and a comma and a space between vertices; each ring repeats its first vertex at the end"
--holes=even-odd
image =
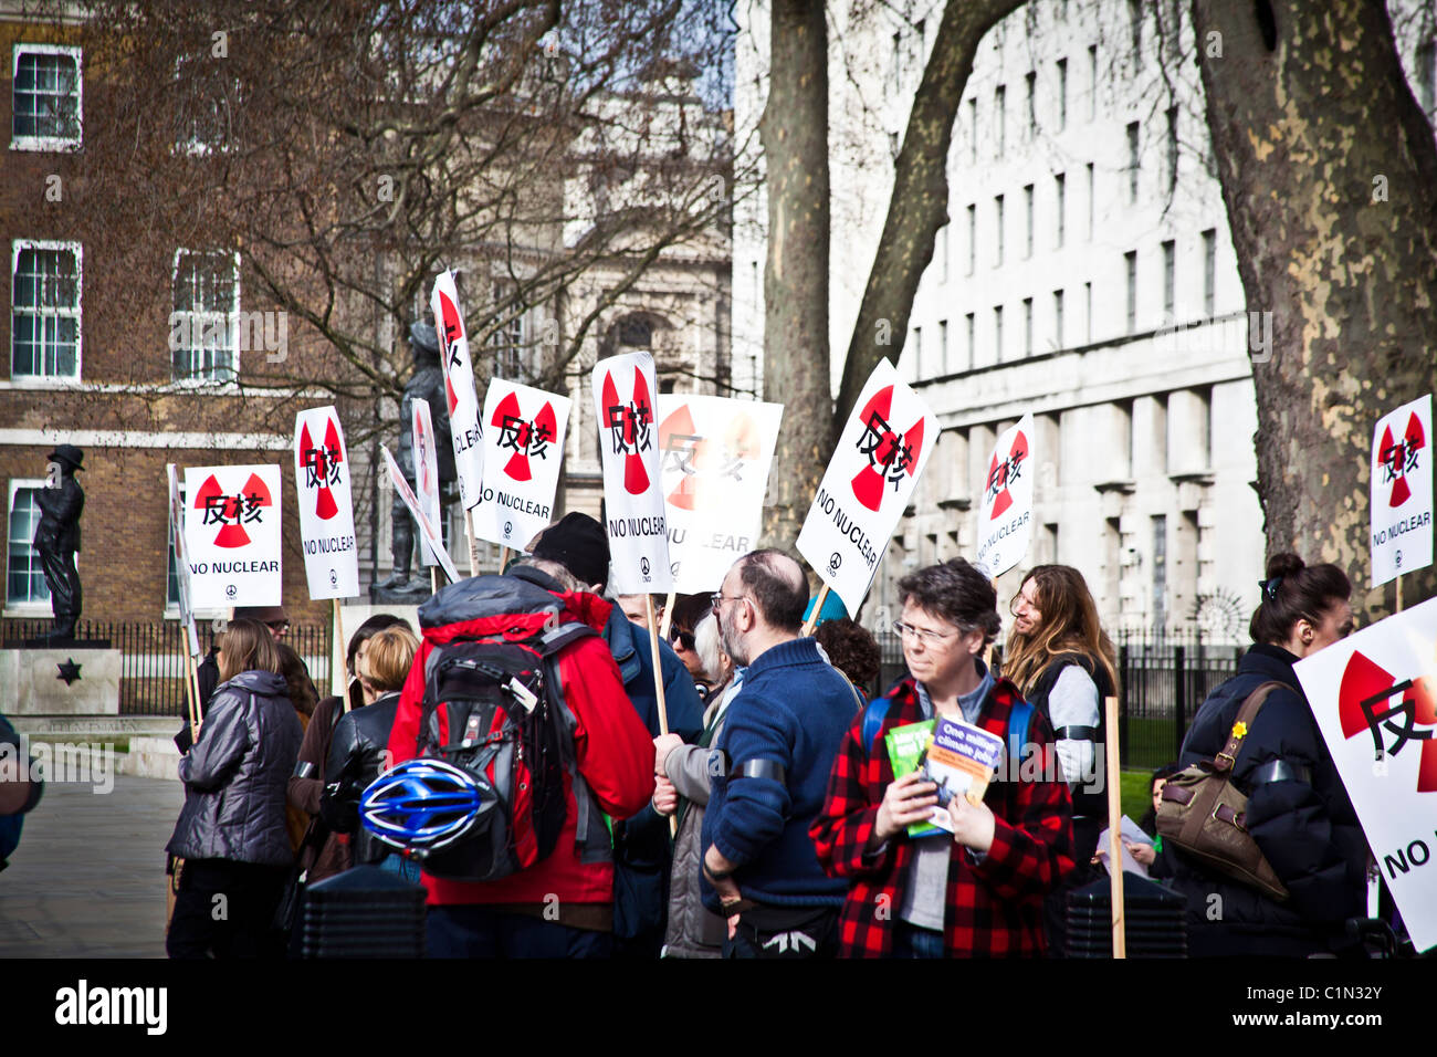
POLYGON ((430 756, 375 778, 359 798, 359 820, 385 844, 433 851, 468 833, 496 802, 487 781, 430 756))

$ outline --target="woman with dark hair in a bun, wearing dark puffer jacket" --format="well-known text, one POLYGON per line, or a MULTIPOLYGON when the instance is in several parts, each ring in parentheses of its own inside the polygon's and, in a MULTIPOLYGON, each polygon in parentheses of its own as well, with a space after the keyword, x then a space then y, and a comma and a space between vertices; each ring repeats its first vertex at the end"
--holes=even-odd
POLYGON ((1173 848, 1173 886, 1187 896, 1188 953, 1306 958, 1352 948, 1344 922, 1362 913, 1367 840, 1292 666, 1352 631, 1352 584, 1336 565, 1295 554, 1267 559, 1252 618, 1253 647, 1213 690, 1183 742, 1181 767, 1227 743, 1243 702, 1280 683, 1237 751, 1233 784, 1246 828, 1288 889, 1285 900, 1173 848))

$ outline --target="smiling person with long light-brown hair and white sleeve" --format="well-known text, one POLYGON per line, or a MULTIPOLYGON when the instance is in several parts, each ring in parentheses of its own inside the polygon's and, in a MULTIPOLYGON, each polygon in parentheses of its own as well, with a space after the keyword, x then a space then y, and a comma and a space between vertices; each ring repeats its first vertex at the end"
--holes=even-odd
POLYGON ((1053 726, 1058 761, 1073 794, 1073 859, 1086 863, 1106 813, 1098 756, 1102 702, 1118 692, 1117 653, 1088 582, 1072 565, 1033 567, 1009 611, 1013 633, 1003 674, 1053 726))

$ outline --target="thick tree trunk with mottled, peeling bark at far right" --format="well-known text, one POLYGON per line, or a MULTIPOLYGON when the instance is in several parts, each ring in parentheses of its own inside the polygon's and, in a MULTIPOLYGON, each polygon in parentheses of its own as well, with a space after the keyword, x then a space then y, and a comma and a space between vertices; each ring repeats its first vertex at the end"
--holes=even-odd
MULTIPOLYGON (((1270 314, 1249 316, 1267 551, 1336 562, 1375 618, 1372 427, 1437 383, 1433 129, 1381 0, 1194 0, 1193 20, 1247 308, 1270 314)), ((1403 580, 1411 604, 1437 578, 1403 580)))

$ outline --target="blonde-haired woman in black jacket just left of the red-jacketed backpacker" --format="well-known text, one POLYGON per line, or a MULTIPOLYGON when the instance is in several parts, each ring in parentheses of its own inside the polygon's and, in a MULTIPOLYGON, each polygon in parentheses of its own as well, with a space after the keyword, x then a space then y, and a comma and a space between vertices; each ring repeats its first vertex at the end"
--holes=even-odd
POLYGON ((385 768, 389 728, 399 708, 399 690, 410 677, 420 641, 408 627, 387 627, 376 633, 361 662, 359 685, 365 706, 349 712, 335 728, 325 762, 328 782, 319 802, 319 817, 339 834, 349 834, 354 863, 379 863, 410 880, 420 880, 418 866, 392 854, 359 824, 359 797, 385 768))

